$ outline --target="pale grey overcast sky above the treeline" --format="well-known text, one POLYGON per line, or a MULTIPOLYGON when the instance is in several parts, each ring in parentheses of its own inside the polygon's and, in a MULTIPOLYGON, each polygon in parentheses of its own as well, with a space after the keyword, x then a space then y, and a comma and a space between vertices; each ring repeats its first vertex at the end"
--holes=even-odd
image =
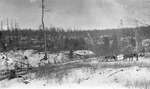
MULTIPOLYGON (((150 0, 45 0, 46 26, 116 28, 150 24, 150 0)), ((22 28, 38 28, 41 0, 0 0, 0 20, 16 20, 22 28)))

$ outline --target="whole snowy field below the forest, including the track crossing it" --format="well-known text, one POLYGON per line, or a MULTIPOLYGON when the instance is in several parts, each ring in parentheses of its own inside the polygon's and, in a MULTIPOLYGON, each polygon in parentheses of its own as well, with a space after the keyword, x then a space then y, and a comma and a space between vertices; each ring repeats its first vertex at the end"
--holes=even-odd
POLYGON ((62 54, 48 54, 51 64, 57 57, 57 65, 38 67, 43 53, 27 50, 8 52, 8 55, 13 60, 19 60, 18 55, 27 56, 34 71, 21 78, 0 81, 0 89, 150 89, 148 57, 138 62, 101 62, 98 58, 69 62, 62 54))

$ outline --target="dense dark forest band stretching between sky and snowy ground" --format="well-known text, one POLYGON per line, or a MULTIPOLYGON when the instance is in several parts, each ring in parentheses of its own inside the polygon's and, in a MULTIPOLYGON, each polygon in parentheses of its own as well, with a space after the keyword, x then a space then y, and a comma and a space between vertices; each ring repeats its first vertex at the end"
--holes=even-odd
MULTIPOLYGON (((112 55, 128 52, 135 47, 135 31, 139 43, 150 39, 150 26, 106 30, 65 30, 47 28, 47 48, 49 52, 68 50, 92 50, 97 55, 112 55)), ((44 31, 32 29, 9 29, 0 31, 1 51, 35 49, 44 51, 44 31)))

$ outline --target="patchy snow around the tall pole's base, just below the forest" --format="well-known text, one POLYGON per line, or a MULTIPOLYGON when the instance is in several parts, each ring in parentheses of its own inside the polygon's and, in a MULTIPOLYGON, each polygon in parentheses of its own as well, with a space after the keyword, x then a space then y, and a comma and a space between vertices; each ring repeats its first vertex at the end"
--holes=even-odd
MULTIPOLYGON (((43 52, 36 52, 35 50, 19 50, 19 51, 9 51, 7 53, 2 53, 0 55, 0 70, 4 70, 6 69, 4 67, 4 61, 2 60, 2 56, 3 55, 7 55, 8 59, 10 59, 11 61, 15 62, 15 61, 19 61, 19 62, 23 62, 23 57, 27 56, 28 60, 29 60, 29 64, 32 67, 38 67, 40 60, 42 58, 44 58, 44 53, 43 52)), ((54 53, 54 54, 48 54, 48 61, 52 64, 54 63, 62 63, 62 62, 67 62, 68 58, 63 55, 63 53, 54 53)))

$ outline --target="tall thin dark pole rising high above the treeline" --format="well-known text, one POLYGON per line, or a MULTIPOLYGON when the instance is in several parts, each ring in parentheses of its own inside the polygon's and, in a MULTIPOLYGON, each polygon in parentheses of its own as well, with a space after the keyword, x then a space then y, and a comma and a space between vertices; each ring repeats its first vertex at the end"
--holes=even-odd
POLYGON ((46 40, 46 29, 45 29, 45 23, 44 23, 44 13, 45 12, 45 0, 42 0, 42 29, 44 31, 44 51, 45 51, 45 59, 47 59, 47 40, 46 40))

